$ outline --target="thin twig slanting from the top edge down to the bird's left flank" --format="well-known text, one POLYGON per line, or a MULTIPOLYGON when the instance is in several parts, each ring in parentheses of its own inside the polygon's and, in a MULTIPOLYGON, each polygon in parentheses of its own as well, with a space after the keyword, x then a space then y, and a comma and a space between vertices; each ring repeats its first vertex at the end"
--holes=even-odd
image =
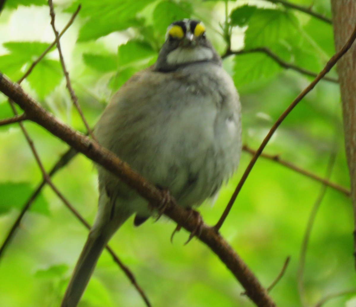
POLYGON ((84 123, 85 128, 87 129, 89 135, 91 136, 91 138, 93 140, 95 140, 94 134, 91 131, 87 120, 84 117, 82 108, 80 107, 79 103, 78 103, 78 97, 77 95, 75 95, 74 89, 72 87, 72 84, 70 82, 70 78, 69 78, 69 72, 66 68, 66 63, 64 63, 64 58, 63 58, 63 54, 62 54, 62 48, 61 48, 61 43, 59 42, 59 34, 58 31, 56 29, 56 26, 54 25, 54 20, 56 18, 56 15, 54 14, 54 9, 53 9, 53 3, 52 0, 48 0, 48 5, 49 5, 49 15, 51 15, 51 26, 54 32, 54 35, 56 36, 56 45, 57 45, 57 49, 58 49, 58 54, 59 54, 59 60, 61 61, 61 65, 62 65, 62 69, 63 69, 63 73, 64 73, 64 77, 66 77, 66 87, 68 89, 70 98, 72 99, 72 102, 75 106, 75 108, 77 109, 80 117, 82 118, 82 121, 84 123))

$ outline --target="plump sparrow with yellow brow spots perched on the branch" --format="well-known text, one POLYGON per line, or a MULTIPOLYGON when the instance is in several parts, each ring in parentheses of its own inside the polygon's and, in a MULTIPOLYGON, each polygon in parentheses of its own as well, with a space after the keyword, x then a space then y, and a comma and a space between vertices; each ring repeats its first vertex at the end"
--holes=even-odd
MULTIPOLYGON (((112 97, 94 130, 100 145, 192 209, 213 198, 241 155, 241 105, 203 22, 167 28, 156 62, 112 97)), ((111 236, 135 214, 154 214, 133 189, 98 166, 99 204, 61 307, 76 307, 111 236)))

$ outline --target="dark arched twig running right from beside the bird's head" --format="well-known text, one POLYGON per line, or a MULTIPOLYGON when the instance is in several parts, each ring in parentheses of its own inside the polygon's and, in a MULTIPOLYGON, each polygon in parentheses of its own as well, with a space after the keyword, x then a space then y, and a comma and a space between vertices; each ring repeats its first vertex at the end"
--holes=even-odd
MULTIPOLYGON (((232 51, 232 50, 227 49, 225 54, 223 54, 221 56, 221 58, 226 58, 229 55, 250 54, 250 53, 256 53, 256 52, 266 54, 267 56, 269 56, 269 58, 274 60, 282 68, 294 70, 294 71, 299 72, 300 74, 314 77, 314 78, 318 76, 318 74, 316 74, 313 71, 301 68, 297 65, 294 65, 292 63, 288 63, 288 62, 282 60, 277 54, 273 53, 271 51, 271 49, 269 49, 267 47, 260 47, 260 48, 246 49, 246 50, 244 49, 244 50, 238 50, 238 51, 232 51)), ((332 77, 327 77, 327 76, 325 76, 323 78, 323 80, 333 82, 333 83, 339 83, 339 80, 332 78, 332 77)))

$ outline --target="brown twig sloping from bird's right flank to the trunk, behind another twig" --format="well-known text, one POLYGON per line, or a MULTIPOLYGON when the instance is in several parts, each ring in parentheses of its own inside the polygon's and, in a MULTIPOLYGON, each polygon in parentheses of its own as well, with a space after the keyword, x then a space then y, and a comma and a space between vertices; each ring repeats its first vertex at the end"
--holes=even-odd
MULTIPOLYGON (((242 146, 242 150, 250 153, 251 155, 255 155, 256 154, 256 150, 251 149, 250 147, 248 147, 247 145, 242 146)), ((344 193, 346 196, 350 197, 351 192, 350 190, 346 189, 345 187, 342 187, 339 184, 336 184, 334 182, 331 182, 329 180, 326 180, 325 178, 322 178, 312 172, 307 171, 306 169, 300 168, 299 166, 294 165, 293 163, 290 163, 286 160, 282 160, 281 157, 279 157, 279 155, 270 155, 270 154, 265 154, 262 153, 261 157, 266 158, 268 160, 272 160, 280 165, 286 166, 289 169, 292 169, 293 171, 302 174, 304 176, 307 176, 311 179, 314 179, 315 181, 319 181, 325 185, 328 185, 328 187, 333 188, 341 193, 344 193)))

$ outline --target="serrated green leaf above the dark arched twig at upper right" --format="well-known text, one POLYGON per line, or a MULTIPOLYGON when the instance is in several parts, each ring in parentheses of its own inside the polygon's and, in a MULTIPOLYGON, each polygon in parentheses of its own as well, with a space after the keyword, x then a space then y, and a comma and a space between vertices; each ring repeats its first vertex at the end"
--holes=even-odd
POLYGON ((245 48, 270 47, 297 34, 298 19, 289 11, 256 9, 248 22, 245 48))

